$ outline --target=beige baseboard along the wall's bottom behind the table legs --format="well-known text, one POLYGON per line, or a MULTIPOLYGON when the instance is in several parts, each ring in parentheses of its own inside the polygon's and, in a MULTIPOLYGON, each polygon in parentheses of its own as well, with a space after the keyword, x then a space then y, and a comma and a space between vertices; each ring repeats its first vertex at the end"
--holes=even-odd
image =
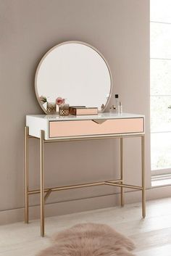
MULTIPOLYGON (((146 189, 146 200, 159 199, 171 196, 171 186, 160 186, 146 189)), ((120 194, 110 194, 101 197, 92 197, 87 199, 77 199, 68 202, 57 202, 46 204, 46 217, 54 215, 64 215, 73 212, 82 212, 85 210, 94 210, 99 208, 114 207, 119 204, 120 194)), ((125 192, 125 204, 141 202, 141 191, 125 192)), ((30 206, 30 220, 37 219, 40 216, 40 207, 30 206)), ((24 208, 0 211, 0 225, 23 221, 24 208)))

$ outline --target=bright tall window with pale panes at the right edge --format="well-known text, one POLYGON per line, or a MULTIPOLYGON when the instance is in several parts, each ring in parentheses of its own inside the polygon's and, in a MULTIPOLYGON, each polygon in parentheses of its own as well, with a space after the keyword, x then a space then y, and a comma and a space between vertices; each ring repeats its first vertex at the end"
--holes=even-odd
POLYGON ((151 170, 171 173, 171 0, 151 0, 151 170))

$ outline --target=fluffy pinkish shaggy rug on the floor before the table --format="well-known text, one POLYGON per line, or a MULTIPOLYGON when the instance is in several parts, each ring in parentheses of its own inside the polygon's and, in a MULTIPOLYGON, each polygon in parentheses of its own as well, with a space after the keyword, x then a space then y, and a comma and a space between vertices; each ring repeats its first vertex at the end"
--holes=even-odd
POLYGON ((53 237, 53 245, 38 256, 135 256, 133 241, 104 224, 72 226, 53 237))

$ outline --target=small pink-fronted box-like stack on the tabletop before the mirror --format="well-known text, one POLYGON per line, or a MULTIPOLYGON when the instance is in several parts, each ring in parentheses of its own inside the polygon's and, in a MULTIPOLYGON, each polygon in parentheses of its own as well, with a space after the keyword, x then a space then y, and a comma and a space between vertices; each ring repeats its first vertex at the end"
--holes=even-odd
POLYGON ((72 106, 70 115, 98 115, 97 107, 72 106))

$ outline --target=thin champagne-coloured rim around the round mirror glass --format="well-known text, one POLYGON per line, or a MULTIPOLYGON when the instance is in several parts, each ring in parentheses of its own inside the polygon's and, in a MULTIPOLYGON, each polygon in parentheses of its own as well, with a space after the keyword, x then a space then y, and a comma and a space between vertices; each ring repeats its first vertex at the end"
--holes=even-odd
MULTIPOLYGON (((54 49, 56 49, 57 47, 59 46, 62 46, 63 44, 83 44, 85 46, 88 46, 90 47, 91 49, 93 49, 94 51, 96 51, 102 59, 104 59, 104 62, 106 63, 107 65, 107 69, 109 70, 109 76, 110 76, 110 91, 109 91, 109 96, 108 96, 108 99, 107 99, 107 102, 106 104, 104 104, 104 109, 101 110, 101 111, 98 111, 98 112, 104 112, 106 109, 107 109, 107 104, 109 103, 109 100, 111 98, 111 94, 112 94, 112 73, 111 73, 111 70, 109 68, 109 64, 107 63, 107 60, 104 58, 103 54, 101 54, 101 52, 96 49, 95 47, 91 46, 90 44, 87 44, 85 42, 82 42, 82 41, 64 41, 62 42, 61 44, 57 44, 56 46, 52 47, 51 49, 49 49, 49 51, 46 52, 46 54, 43 55, 43 57, 41 58, 41 61, 39 62, 38 64, 38 67, 36 69, 36 75, 35 75, 35 92, 36 92, 36 98, 38 100, 38 103, 39 105, 41 106, 41 109, 43 110, 43 112, 46 113, 46 115, 49 115, 49 113, 46 111, 46 109, 43 107, 43 104, 41 103, 41 100, 39 99, 39 96, 38 96, 38 90, 37 90, 37 79, 38 79, 38 70, 40 69, 41 67, 41 64, 43 62, 43 60, 46 58, 46 56, 51 52, 53 51, 54 49)), ((58 112, 57 112, 58 113, 58 112)))

